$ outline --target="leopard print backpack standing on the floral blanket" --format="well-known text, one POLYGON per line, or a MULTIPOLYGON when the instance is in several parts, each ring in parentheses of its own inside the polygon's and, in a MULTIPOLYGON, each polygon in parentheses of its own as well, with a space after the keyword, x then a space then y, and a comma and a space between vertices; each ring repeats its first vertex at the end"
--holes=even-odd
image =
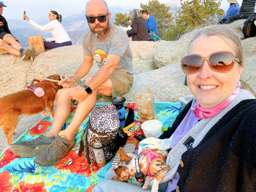
POLYGON ((81 157, 84 151, 85 160, 88 163, 96 164, 93 145, 101 143, 102 147, 100 148, 103 148, 106 162, 109 162, 118 150, 117 134, 119 129, 121 129, 120 121, 117 109, 113 104, 93 108, 80 141, 78 156, 81 157))

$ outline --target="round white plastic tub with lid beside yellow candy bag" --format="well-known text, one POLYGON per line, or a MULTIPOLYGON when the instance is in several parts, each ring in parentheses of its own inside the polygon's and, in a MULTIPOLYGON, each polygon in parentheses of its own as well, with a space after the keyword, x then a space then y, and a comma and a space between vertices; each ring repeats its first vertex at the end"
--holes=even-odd
POLYGON ((162 135, 162 122, 157 119, 151 119, 141 124, 141 129, 146 137, 158 138, 162 135))

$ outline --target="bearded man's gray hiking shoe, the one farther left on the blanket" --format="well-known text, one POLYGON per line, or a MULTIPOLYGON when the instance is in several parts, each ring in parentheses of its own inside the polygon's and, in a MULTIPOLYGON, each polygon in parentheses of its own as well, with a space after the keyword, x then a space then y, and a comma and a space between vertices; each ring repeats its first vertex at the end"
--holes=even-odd
POLYGON ((40 155, 49 146, 55 137, 39 137, 24 142, 13 143, 10 145, 12 153, 20 157, 34 157, 40 155))

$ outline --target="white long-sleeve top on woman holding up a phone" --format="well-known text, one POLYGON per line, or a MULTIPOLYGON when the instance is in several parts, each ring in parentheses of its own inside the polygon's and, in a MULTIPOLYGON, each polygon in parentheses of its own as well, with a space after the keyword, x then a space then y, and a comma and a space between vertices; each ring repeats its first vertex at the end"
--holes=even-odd
POLYGON ((41 31, 47 31, 51 30, 51 33, 53 35, 52 38, 46 38, 46 41, 55 41, 55 43, 63 43, 70 41, 70 37, 68 36, 67 32, 65 31, 64 27, 61 25, 61 23, 54 19, 48 24, 41 26, 29 19, 28 21, 31 25, 33 25, 35 28, 41 30, 41 31))

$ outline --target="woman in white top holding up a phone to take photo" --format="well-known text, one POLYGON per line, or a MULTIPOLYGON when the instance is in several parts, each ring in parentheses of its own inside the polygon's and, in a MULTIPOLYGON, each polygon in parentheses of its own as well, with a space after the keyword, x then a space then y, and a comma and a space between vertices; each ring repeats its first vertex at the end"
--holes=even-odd
POLYGON ((36 27, 41 31, 51 30, 53 35, 52 38, 44 39, 44 45, 47 49, 53 49, 56 47, 62 47, 67 45, 72 45, 70 37, 68 36, 67 32, 61 25, 62 16, 59 15, 56 11, 50 11, 48 13, 48 18, 51 22, 48 24, 41 26, 36 24, 34 21, 28 18, 26 14, 23 15, 25 20, 27 20, 31 25, 36 27))

